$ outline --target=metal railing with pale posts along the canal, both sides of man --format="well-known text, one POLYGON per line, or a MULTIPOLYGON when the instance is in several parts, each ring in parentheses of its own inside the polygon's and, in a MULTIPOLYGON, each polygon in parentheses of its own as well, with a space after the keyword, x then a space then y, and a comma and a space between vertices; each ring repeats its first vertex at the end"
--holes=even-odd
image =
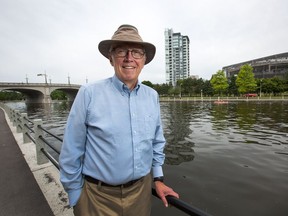
MULTIPOLYGON (((62 142, 63 139, 51 133, 50 131, 46 130, 42 126, 43 122, 41 119, 35 119, 31 121, 27 117, 27 113, 20 113, 18 110, 14 110, 3 103, 0 103, 0 106, 5 110, 5 112, 9 116, 9 119, 13 123, 13 126, 16 127, 17 133, 23 134, 23 142, 28 143, 32 141, 35 144, 37 164, 41 165, 50 161, 59 170, 58 161, 47 150, 47 147, 49 147, 58 155, 60 154, 60 151, 51 144, 51 140, 49 141, 48 139, 46 139, 46 136, 49 135, 50 137, 60 142, 62 142)), ((154 188, 152 188, 152 195, 158 197, 156 190, 154 188)), ((170 205, 176 207, 177 209, 188 215, 209 216, 208 213, 180 199, 177 199, 172 196, 167 196, 166 198, 170 205)))

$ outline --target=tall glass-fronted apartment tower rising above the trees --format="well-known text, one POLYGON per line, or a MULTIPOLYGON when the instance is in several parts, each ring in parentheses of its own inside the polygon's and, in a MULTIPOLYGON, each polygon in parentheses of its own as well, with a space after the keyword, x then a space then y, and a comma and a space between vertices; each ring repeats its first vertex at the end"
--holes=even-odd
POLYGON ((165 29, 166 83, 176 86, 177 80, 190 76, 189 37, 165 29))

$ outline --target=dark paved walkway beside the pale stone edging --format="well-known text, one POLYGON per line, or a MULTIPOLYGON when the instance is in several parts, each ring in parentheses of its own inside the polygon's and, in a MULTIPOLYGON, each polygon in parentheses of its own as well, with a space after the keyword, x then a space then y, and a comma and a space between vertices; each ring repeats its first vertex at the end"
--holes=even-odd
POLYGON ((0 109, 0 215, 53 216, 0 109))

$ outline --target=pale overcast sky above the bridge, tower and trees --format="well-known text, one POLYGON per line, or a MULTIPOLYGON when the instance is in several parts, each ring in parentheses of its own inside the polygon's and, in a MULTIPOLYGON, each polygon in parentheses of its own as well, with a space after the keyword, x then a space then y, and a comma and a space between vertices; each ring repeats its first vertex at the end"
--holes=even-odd
POLYGON ((0 82, 84 84, 113 76, 98 51, 122 24, 156 46, 139 77, 165 83, 166 28, 190 39, 190 75, 288 52, 287 0, 0 0, 0 82))

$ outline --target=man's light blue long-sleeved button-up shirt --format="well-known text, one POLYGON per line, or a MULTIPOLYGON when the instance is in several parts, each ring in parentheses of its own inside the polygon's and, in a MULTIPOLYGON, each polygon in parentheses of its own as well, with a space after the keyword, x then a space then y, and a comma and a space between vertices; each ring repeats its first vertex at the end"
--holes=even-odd
POLYGON ((79 89, 59 157, 60 179, 74 206, 83 175, 118 185, 149 172, 163 176, 165 139, 155 90, 133 91, 115 75, 79 89))

